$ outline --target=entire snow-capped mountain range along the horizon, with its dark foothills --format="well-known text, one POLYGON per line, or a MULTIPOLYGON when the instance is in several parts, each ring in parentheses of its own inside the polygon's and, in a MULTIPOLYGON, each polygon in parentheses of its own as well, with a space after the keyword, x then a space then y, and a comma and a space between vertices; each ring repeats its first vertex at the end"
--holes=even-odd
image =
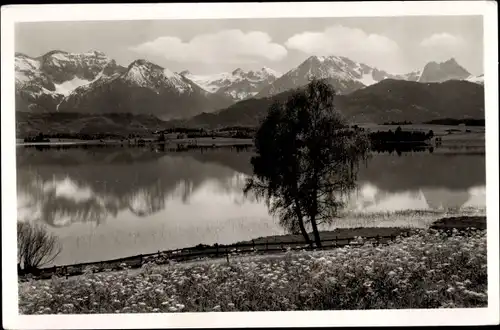
MULTIPOLYGON (((316 77, 333 85, 339 94, 339 106, 347 107, 343 111, 354 120, 477 118, 481 111, 484 116, 484 103, 481 106, 481 102, 462 100, 466 95, 474 95, 474 100, 479 97, 476 95, 482 98, 483 76, 471 75, 455 59, 430 62, 421 71, 404 75, 390 74, 342 56, 311 56, 283 75, 265 67, 195 75, 187 70, 172 72, 143 59, 124 67, 99 51, 54 50, 35 58, 16 53, 15 72, 18 112, 131 113, 174 122, 199 122, 283 97, 316 77), (448 90, 450 84, 434 85, 449 81, 455 81, 453 84, 460 86, 463 93, 448 90), (388 86, 390 91, 386 90, 388 86), (429 86, 444 94, 430 91, 429 86), (434 105, 422 97, 430 97, 434 105), (452 101, 447 103, 450 109, 472 103, 478 107, 457 110, 448 116, 451 110, 444 109, 443 103, 452 101), (192 119, 186 121, 189 118, 192 119)), ((245 122, 244 113, 231 116, 240 116, 235 120, 245 122)))

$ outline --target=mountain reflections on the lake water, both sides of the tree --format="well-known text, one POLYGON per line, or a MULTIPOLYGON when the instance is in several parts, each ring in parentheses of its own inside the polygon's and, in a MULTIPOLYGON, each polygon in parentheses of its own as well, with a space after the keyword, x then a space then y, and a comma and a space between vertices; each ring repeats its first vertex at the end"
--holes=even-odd
MULTIPOLYGON (((414 200, 424 196, 429 208, 460 207, 470 199, 470 188, 485 185, 484 155, 431 155, 433 150, 427 148, 401 148, 379 149, 361 168, 360 185, 376 190, 374 197, 362 197, 361 205, 406 194, 414 200)), ((188 204, 200 189, 239 205, 255 203, 242 194, 252 154, 249 148, 18 148, 17 188, 26 205, 40 210, 23 216, 40 216, 54 227, 102 224, 120 212, 150 217, 172 200, 188 204)))

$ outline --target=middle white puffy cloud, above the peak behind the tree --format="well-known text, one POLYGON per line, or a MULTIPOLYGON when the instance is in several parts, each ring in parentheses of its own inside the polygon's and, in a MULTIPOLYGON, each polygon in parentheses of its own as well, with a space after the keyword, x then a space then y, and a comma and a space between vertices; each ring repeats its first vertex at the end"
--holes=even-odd
POLYGON ((289 49, 310 55, 340 55, 380 69, 396 69, 401 60, 398 44, 383 35, 335 25, 322 32, 302 32, 290 37, 289 49))

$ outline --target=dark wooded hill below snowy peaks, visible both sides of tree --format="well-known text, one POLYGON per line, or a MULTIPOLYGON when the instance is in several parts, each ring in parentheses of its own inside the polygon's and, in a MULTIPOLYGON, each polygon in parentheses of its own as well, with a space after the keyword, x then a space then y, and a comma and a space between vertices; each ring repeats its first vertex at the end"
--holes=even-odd
MULTIPOLYGON (((187 127, 256 126, 273 101, 285 101, 292 91, 249 99, 216 113, 203 113, 169 125, 187 127)), ((336 96, 337 108, 351 122, 422 123, 440 118, 484 118, 484 87, 468 81, 418 83, 385 79, 348 95, 336 96)))

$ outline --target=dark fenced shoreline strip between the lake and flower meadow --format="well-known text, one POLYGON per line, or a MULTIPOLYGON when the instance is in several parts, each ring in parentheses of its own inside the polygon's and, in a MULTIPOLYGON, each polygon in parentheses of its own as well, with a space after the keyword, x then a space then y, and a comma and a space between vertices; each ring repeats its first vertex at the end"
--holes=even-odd
MULTIPOLYGON (((486 216, 484 215, 461 215, 441 217, 432 222, 428 229, 440 229, 444 231, 466 228, 486 230, 486 216)), ((227 258, 234 255, 273 255, 286 250, 327 250, 346 245, 359 245, 356 237, 363 237, 367 241, 377 244, 387 244, 397 236, 411 236, 414 232, 425 229, 403 228, 403 227, 358 227, 358 228, 336 228, 334 230, 321 231, 323 247, 311 249, 303 240, 302 236, 285 234, 271 235, 255 238, 250 241, 240 241, 234 244, 198 244, 196 246, 158 251, 150 254, 140 254, 111 260, 102 260, 86 263, 68 264, 41 268, 38 274, 32 275, 34 279, 50 279, 52 276, 79 276, 84 274, 85 269, 93 268, 93 272, 119 271, 126 268, 140 268, 146 263, 153 262, 158 265, 174 262, 190 262, 203 259, 227 258)), ((309 234, 312 238, 312 233, 309 234)), ((18 274, 19 279, 26 279, 28 274, 18 274)), ((29 275, 28 275, 29 276, 29 275)))

